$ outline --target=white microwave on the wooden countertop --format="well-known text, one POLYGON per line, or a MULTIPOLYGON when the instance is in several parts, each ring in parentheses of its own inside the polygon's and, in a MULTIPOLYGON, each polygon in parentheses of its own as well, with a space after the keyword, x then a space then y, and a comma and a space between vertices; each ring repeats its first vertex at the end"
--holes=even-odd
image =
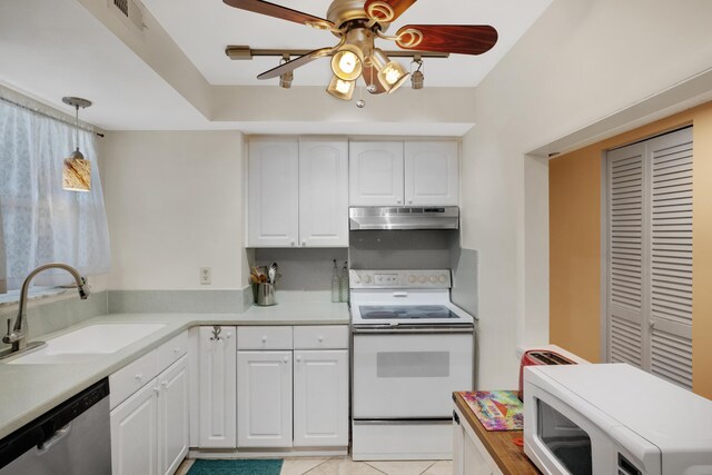
POLYGON ((547 475, 712 475, 712 400, 626 364, 527 366, 524 452, 547 475))

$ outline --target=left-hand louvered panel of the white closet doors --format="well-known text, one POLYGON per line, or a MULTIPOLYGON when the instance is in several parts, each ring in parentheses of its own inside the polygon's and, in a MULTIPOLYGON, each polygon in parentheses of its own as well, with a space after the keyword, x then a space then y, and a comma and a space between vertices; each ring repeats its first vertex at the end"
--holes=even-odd
POLYGON ((635 144, 609 157, 609 360, 643 367, 643 155, 635 144))

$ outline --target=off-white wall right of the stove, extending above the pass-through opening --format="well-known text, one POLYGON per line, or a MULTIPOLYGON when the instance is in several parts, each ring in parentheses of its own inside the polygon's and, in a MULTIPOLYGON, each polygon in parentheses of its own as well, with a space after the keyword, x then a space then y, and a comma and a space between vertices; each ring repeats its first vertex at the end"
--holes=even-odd
POLYGON ((547 340, 546 166, 526 154, 709 71, 711 22, 706 0, 556 0, 477 87, 462 207, 481 387, 515 387, 515 348, 547 340))

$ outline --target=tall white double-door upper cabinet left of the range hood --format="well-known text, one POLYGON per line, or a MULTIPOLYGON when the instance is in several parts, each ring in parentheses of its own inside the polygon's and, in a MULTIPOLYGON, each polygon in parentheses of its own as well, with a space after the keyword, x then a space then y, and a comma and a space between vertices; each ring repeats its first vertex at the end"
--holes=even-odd
POLYGON ((249 247, 348 246, 345 139, 251 139, 248 188, 249 247))

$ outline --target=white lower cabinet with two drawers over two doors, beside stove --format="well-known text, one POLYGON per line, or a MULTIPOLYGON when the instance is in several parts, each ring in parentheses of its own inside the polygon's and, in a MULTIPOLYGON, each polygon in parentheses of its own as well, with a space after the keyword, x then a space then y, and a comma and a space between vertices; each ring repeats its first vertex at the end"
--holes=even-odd
POLYGON ((237 446, 348 445, 348 326, 239 327, 237 446))

